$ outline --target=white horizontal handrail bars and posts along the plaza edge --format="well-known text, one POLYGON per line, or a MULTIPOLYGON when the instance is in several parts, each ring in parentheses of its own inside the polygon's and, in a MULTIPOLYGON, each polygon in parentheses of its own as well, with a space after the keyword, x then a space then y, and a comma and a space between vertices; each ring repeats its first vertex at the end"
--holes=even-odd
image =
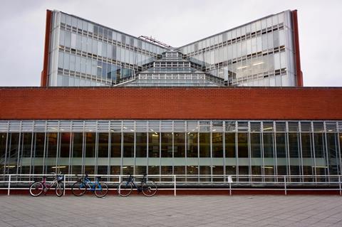
MULTIPOLYGON (((73 177, 78 177, 78 176, 83 176, 84 174, 63 174, 64 176, 64 189, 66 189, 66 184, 71 184, 75 182, 73 180, 73 177)), ((15 183, 31 183, 33 182, 31 178, 33 177, 39 177, 39 176, 56 176, 56 174, 0 174, 0 179, 3 178, 3 180, 0 180, 0 184, 7 184, 6 188, 0 188, 0 189, 7 189, 7 195, 10 195, 11 189, 28 189, 28 187, 24 188, 16 188, 13 187, 13 184, 15 183), (27 180, 21 180, 17 179, 20 176, 28 177, 27 180), (15 179, 16 178, 16 179, 15 179), (7 180, 6 180, 7 179, 7 180), (12 184, 12 187, 11 187, 12 184)), ((118 178, 118 181, 104 181, 105 183, 108 184, 118 184, 122 179, 125 179, 125 177, 129 176, 129 174, 88 174, 90 177, 96 177, 96 176, 101 176, 103 179, 107 178, 113 179, 113 178, 118 178)), ((142 177, 143 175, 140 174, 135 174, 132 175, 135 177, 142 177)), ((174 196, 177 195, 177 190, 196 190, 194 188, 177 188, 177 185, 181 184, 191 184, 191 185, 207 185, 207 184, 212 184, 213 186, 224 186, 223 188, 201 188, 203 190, 229 190, 229 195, 232 195, 232 191, 234 190, 275 190, 275 191, 282 191, 284 190, 284 194, 287 195, 288 191, 291 190, 313 190, 313 191, 326 191, 326 190, 335 190, 339 191, 339 194, 342 196, 342 175, 229 175, 229 174, 200 174, 200 175, 185 175, 185 174, 149 174, 147 175, 148 178, 159 178, 159 181, 156 181, 157 184, 164 184, 165 186, 173 184, 172 188, 170 189, 162 189, 162 190, 173 190, 174 191, 174 196), (325 181, 317 181, 317 179, 323 177, 325 181), (170 181, 165 181, 165 178, 170 179, 170 181), (210 181, 200 181, 200 179, 210 179, 210 181), (217 178, 222 178, 223 181, 213 181, 212 179, 217 179, 217 178), (249 181, 240 181, 239 179, 249 179, 249 181), (252 178, 256 179, 263 179, 263 181, 252 181, 252 178), (275 181, 264 181, 265 179, 274 179, 275 181), (315 179, 316 181, 291 181, 291 179, 305 179, 305 178, 310 178, 310 179, 315 179), (335 179, 335 181, 331 181, 331 179, 335 179), (180 181, 177 179, 197 179, 199 181, 180 181), (235 180, 235 181, 234 181, 235 180), (282 188, 267 188, 267 187, 262 187, 262 188, 232 188, 232 186, 241 186, 241 184, 260 184, 261 186, 264 186, 264 184, 269 184, 269 185, 274 185, 274 186, 283 186, 282 188), (337 186, 338 188, 329 188, 329 187, 316 187, 312 189, 300 189, 300 188, 289 188, 289 185, 291 186, 304 186, 304 185, 312 185, 315 184, 316 186, 318 185, 328 185, 328 186, 337 186), (228 188, 227 188, 228 186, 228 188)), ((255 186, 254 185, 254 186, 255 186)), ((113 190, 113 189, 110 189, 113 190)))

